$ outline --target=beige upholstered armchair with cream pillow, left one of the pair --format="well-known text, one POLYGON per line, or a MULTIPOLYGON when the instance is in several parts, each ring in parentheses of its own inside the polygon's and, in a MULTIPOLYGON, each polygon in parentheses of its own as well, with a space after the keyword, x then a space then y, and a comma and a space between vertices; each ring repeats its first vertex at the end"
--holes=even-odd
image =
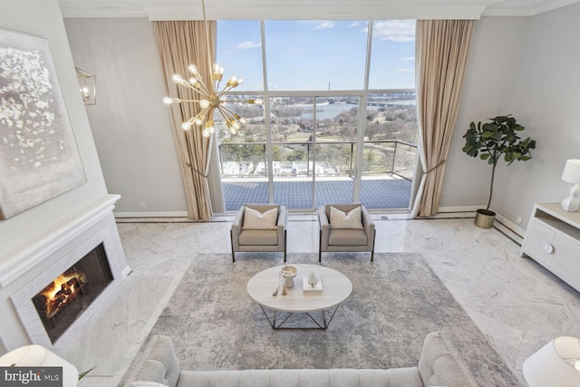
POLYGON ((246 204, 239 208, 230 230, 232 262, 236 252, 283 252, 286 261, 288 211, 277 204, 246 204))

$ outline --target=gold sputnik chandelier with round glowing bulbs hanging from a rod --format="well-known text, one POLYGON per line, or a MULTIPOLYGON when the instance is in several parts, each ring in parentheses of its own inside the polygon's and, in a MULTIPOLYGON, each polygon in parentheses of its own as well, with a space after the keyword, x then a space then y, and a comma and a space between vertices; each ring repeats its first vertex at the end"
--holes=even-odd
POLYGON ((219 113, 224 118, 224 121, 227 125, 227 128, 232 134, 236 134, 237 131, 240 129, 242 124, 246 123, 246 121, 240 117, 237 113, 230 111, 227 109, 224 104, 231 102, 231 103, 248 103, 252 105, 261 105, 263 103, 262 99, 249 99, 249 100, 231 100, 231 99, 224 99, 223 97, 230 92, 232 89, 237 88, 244 80, 242 78, 237 78, 236 75, 232 76, 224 85, 223 89, 219 91, 220 83, 223 79, 224 75, 224 68, 220 66, 218 63, 211 64, 211 53, 209 51, 209 33, 208 33, 208 21, 206 20, 206 5, 204 0, 201 0, 201 6, 203 9, 203 22, 206 27, 206 47, 208 48, 208 63, 209 68, 211 69, 210 74, 210 82, 205 83, 203 82, 201 75, 198 73, 198 68, 194 64, 189 64, 188 70, 191 73, 191 77, 189 80, 185 80, 179 74, 173 74, 172 80, 173 82, 186 87, 188 89, 193 90, 194 92, 198 92, 201 96, 199 100, 182 100, 179 98, 171 98, 165 97, 163 102, 166 105, 170 105, 172 103, 181 103, 181 102, 194 102, 199 104, 200 111, 194 117, 191 117, 188 121, 185 121, 181 124, 181 129, 184 131, 189 131, 193 125, 201 127, 204 123, 204 129, 201 131, 204 137, 209 137, 216 132, 215 122, 214 120, 209 117, 209 111, 216 111, 218 110, 219 113))

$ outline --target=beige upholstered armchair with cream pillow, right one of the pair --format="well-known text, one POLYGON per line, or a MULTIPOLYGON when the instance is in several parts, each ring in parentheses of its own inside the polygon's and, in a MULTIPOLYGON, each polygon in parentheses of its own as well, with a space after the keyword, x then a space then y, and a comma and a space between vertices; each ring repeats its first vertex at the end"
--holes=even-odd
POLYGON ((362 204, 327 204, 318 208, 320 244, 318 262, 322 253, 331 251, 368 251, 374 258, 376 231, 371 216, 362 204))

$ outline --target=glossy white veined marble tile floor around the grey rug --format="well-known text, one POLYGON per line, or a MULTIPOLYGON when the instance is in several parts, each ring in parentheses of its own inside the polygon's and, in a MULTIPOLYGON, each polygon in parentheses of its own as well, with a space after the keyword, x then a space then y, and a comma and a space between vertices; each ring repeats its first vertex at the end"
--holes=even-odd
MULTIPOLYGON (((521 237, 505 229, 478 228, 472 214, 420 220, 404 214, 372 214, 372 218, 377 228, 375 251, 424 256, 522 385, 527 356, 556 336, 580 337, 580 294, 533 260, 520 257, 521 237)), ((78 339, 87 351, 75 355, 73 363, 80 370, 97 366, 81 386, 121 382, 191 259, 230 252, 232 219, 118 224, 133 271, 117 299, 78 339)), ((291 214, 288 253, 312 253, 315 263, 317 248, 316 218, 291 214)), ((292 256, 288 258, 292 263, 292 256)), ((244 259, 243 254, 237 259, 244 259)))

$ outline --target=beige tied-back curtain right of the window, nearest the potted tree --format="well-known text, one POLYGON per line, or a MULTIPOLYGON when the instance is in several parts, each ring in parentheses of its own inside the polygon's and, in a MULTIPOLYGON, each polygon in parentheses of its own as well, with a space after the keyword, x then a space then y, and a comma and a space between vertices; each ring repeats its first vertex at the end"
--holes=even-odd
POLYGON ((420 185, 411 211, 429 217, 439 208, 445 161, 473 34, 473 20, 419 20, 416 34, 420 185))

